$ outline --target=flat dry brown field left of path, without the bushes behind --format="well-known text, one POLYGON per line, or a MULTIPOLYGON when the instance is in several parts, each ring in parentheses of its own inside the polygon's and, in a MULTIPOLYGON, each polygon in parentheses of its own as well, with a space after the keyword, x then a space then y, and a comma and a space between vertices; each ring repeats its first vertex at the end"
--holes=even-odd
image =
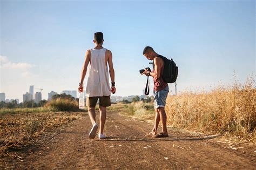
POLYGON ((46 132, 68 124, 82 116, 82 112, 39 112, 1 114, 1 152, 21 149, 46 132))

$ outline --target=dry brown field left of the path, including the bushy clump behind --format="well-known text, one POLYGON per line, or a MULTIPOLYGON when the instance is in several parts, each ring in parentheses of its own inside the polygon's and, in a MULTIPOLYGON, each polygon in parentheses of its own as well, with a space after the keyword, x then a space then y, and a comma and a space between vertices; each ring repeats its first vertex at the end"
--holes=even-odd
POLYGON ((51 100, 44 107, 1 108, 1 153, 28 146, 45 133, 62 127, 83 114, 84 112, 79 112, 77 101, 70 99, 51 100))

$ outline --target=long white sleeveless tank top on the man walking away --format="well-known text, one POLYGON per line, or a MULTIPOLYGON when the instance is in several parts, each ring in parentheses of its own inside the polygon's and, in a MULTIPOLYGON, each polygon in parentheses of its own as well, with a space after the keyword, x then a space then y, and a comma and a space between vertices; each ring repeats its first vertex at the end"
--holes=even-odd
POLYGON ((86 97, 110 96, 109 69, 105 63, 106 49, 91 49, 91 64, 86 97))

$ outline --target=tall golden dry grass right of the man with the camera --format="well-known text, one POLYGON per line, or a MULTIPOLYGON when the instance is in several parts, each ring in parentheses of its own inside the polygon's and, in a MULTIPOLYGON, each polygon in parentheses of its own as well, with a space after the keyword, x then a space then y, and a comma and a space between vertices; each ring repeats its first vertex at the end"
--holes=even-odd
POLYGON ((207 132, 255 138, 256 87, 253 77, 244 85, 219 86, 211 92, 183 92, 167 98, 168 124, 207 132))

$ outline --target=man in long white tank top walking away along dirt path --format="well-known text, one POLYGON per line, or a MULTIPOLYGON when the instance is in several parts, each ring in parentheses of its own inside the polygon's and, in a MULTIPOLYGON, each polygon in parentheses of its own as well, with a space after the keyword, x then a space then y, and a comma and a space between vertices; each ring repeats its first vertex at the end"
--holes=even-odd
POLYGON ((93 43, 95 47, 89 49, 85 53, 84 65, 81 73, 81 81, 78 87, 79 92, 83 92, 84 77, 89 65, 89 77, 86 85, 86 106, 88 107, 89 117, 92 123, 92 129, 89 133, 89 138, 94 139, 98 129, 96 124, 95 106, 99 99, 99 139, 106 138, 103 134, 103 129, 106 120, 106 107, 111 105, 110 94, 116 92, 114 87, 114 69, 112 62, 112 53, 110 50, 105 49, 102 44, 104 42, 103 33, 96 32, 94 35, 93 43), (109 69, 108 69, 108 66, 109 69), (111 89, 109 85, 109 74, 111 78, 111 89))

